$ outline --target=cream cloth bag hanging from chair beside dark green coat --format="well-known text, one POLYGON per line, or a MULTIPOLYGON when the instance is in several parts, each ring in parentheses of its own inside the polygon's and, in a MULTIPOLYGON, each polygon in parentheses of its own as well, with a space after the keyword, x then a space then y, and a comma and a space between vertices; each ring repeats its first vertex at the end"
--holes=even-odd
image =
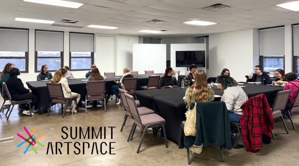
POLYGON ((192 110, 188 110, 186 113, 186 123, 184 126, 184 133, 186 136, 196 136, 196 103, 192 110))

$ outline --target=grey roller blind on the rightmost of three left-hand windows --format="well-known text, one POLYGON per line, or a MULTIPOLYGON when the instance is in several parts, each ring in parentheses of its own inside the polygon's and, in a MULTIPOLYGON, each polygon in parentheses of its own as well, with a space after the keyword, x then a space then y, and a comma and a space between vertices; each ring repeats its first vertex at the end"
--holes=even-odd
POLYGON ((94 52, 94 35, 70 33, 70 52, 94 52))

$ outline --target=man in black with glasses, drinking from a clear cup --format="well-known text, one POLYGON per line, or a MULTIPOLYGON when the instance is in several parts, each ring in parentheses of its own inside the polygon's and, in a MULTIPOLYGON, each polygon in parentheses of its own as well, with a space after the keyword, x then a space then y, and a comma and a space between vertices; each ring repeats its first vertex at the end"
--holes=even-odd
POLYGON ((262 72, 263 67, 260 65, 254 66, 254 74, 248 75, 246 82, 261 82, 261 84, 271 84, 270 77, 267 73, 262 72))

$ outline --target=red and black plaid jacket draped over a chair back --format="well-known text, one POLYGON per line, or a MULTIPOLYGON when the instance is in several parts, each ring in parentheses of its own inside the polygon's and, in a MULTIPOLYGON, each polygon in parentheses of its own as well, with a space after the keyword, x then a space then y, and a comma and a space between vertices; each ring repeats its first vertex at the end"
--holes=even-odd
POLYGON ((262 134, 272 137, 274 118, 264 94, 249 98, 242 106, 243 115, 240 118, 242 137, 246 149, 257 152, 263 148, 262 134))

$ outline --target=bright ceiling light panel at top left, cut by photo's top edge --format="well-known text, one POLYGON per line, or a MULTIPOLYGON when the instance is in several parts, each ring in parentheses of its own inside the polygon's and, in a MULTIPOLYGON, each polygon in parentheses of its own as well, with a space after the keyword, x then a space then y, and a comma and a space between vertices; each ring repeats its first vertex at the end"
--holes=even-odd
POLYGON ((61 0, 24 0, 24 1, 39 3, 39 4, 62 6, 62 7, 71 7, 71 8, 78 8, 83 5, 83 4, 77 3, 77 2, 61 1, 61 0))

